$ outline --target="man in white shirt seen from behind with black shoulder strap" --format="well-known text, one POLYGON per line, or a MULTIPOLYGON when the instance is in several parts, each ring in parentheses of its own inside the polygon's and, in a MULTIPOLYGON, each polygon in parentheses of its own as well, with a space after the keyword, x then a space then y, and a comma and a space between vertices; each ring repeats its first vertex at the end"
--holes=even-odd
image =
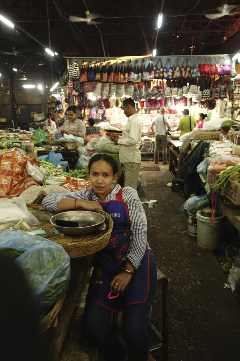
POLYGON ((167 135, 166 135, 166 126, 171 131, 171 126, 168 123, 168 117, 165 114, 165 108, 162 106, 160 108, 160 114, 153 118, 151 123, 151 130, 155 134, 155 144, 154 144, 154 163, 158 164, 158 151, 160 144, 162 144, 162 153, 163 153, 163 164, 168 164, 167 161, 167 135), (153 129, 155 124, 156 132, 153 129))

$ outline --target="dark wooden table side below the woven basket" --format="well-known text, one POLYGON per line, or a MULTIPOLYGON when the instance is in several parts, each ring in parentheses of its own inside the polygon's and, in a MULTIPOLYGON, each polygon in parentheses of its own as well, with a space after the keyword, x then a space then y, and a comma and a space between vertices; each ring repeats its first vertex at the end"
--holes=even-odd
POLYGON ((59 320, 51 325, 42 334, 41 343, 46 348, 46 361, 58 361, 67 335, 73 310, 82 293, 86 275, 89 270, 93 255, 71 259, 71 279, 65 295, 62 309, 59 312, 59 320))

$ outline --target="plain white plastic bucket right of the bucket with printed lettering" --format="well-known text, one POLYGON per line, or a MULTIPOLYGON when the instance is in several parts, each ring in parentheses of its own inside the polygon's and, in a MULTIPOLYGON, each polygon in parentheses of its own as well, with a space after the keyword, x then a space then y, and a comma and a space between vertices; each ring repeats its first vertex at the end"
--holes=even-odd
POLYGON ((221 212, 220 217, 211 223, 211 218, 201 216, 200 210, 196 213, 197 223, 197 245, 207 251, 216 251, 223 237, 223 218, 225 214, 221 212))

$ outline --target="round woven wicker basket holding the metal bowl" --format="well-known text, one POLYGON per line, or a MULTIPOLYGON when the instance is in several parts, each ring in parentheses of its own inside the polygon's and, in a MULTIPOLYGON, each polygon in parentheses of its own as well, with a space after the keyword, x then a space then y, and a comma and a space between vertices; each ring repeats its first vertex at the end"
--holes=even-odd
MULTIPOLYGON (((30 210, 37 209, 47 212, 40 204, 28 204, 27 207, 30 210)), ((105 216, 106 228, 104 231, 96 231, 78 236, 59 236, 54 233, 53 225, 51 225, 51 223, 41 222, 41 227, 47 234, 46 238, 60 244, 70 258, 92 255, 107 246, 113 229, 113 221, 108 213, 103 212, 103 210, 100 209, 92 212, 98 212, 105 216)))

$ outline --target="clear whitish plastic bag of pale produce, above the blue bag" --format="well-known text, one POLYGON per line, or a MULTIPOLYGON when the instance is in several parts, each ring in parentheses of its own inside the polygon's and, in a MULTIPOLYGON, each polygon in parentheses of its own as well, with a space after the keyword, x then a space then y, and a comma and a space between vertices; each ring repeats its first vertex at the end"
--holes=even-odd
POLYGON ((30 231, 40 227, 40 222, 21 197, 0 199, 0 232, 10 227, 14 231, 30 231))

